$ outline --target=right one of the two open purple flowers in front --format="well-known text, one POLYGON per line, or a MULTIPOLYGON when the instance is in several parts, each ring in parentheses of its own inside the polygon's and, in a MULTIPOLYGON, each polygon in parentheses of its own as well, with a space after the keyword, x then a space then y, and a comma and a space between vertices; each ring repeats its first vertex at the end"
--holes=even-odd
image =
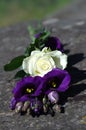
POLYGON ((44 75, 38 91, 47 95, 52 91, 65 92, 69 87, 70 80, 70 75, 66 70, 55 68, 44 75))

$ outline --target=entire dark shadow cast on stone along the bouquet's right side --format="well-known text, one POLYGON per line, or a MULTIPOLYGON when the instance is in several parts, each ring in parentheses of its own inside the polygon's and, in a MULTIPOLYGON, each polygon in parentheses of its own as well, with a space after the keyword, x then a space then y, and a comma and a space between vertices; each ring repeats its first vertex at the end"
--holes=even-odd
MULTIPOLYGON (((71 84, 70 84, 69 89, 66 92, 60 93, 59 104, 61 104, 62 106, 69 100, 69 97, 74 97, 70 99, 75 100, 75 101, 86 100, 85 95, 76 96, 86 89, 86 84, 81 83, 82 80, 86 79, 86 71, 79 70, 78 68, 73 67, 73 65, 82 61, 84 58, 85 58, 84 54, 82 53, 69 56, 69 59, 68 59, 69 65, 68 65, 67 71, 71 75, 71 84)), ((64 113, 65 111, 63 108, 62 108, 62 111, 63 111, 62 113, 64 113)))

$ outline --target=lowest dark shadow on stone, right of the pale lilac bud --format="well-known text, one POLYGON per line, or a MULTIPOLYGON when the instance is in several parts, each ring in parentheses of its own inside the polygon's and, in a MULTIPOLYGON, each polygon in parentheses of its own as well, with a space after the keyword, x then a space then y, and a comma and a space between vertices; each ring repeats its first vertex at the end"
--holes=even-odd
MULTIPOLYGON (((73 100, 74 101, 86 100, 86 95, 76 96, 77 94, 81 93, 85 89, 86 89, 86 84, 72 85, 66 92, 60 94, 59 104, 63 106, 68 101, 71 102, 73 100), (69 97, 74 97, 74 98, 69 98, 69 97)), ((62 109, 63 108, 64 107, 62 107, 62 109)))

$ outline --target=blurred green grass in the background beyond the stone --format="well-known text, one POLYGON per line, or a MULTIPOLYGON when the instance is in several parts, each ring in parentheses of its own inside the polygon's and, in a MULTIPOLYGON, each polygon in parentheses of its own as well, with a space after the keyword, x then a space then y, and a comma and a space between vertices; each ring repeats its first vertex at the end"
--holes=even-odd
POLYGON ((70 2, 71 0, 0 0, 0 27, 43 19, 70 2))

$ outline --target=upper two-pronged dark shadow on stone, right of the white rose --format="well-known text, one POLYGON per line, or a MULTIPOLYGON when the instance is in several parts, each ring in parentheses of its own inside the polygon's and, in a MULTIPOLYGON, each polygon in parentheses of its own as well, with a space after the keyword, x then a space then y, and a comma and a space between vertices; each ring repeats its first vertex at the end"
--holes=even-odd
POLYGON ((83 53, 70 55, 68 58, 68 72, 71 75, 71 85, 81 82, 82 80, 86 79, 86 71, 79 70, 78 68, 74 67, 73 65, 77 64, 78 62, 85 59, 83 53))

